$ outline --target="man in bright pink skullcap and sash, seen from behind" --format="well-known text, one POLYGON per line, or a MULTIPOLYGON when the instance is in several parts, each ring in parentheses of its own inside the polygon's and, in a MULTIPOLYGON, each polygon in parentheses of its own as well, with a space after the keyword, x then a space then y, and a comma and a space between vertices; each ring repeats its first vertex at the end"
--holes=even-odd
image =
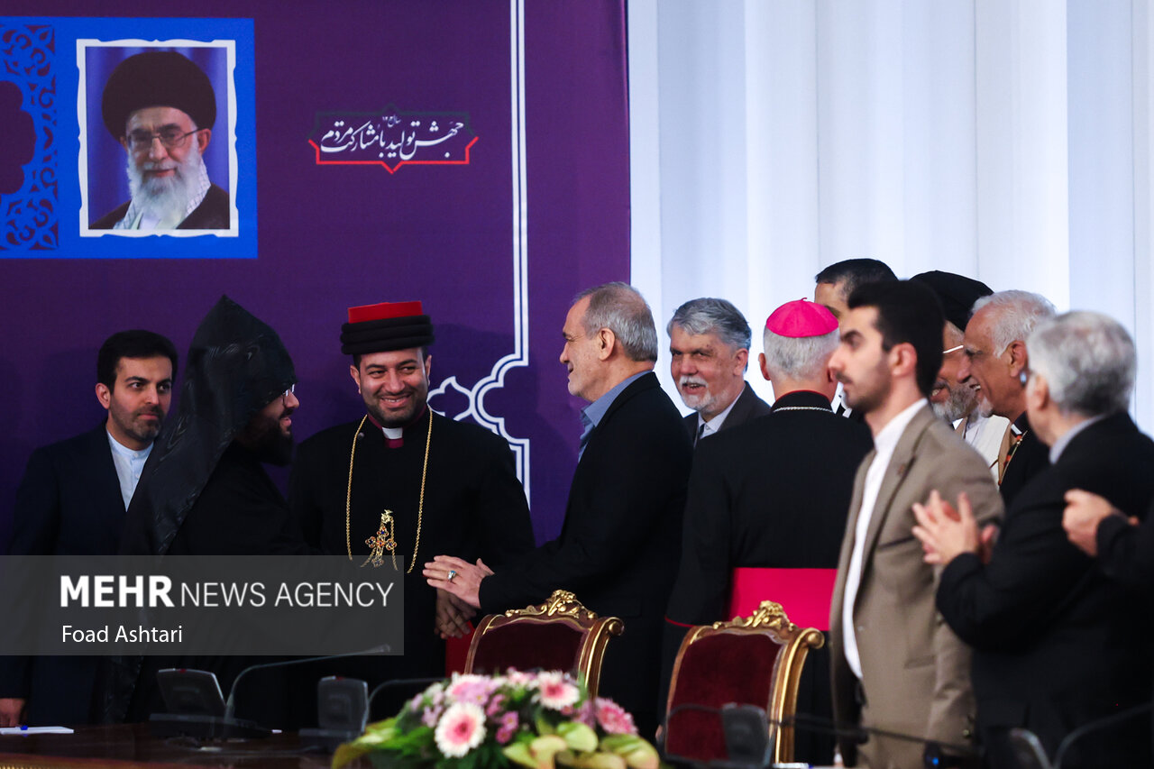
MULTIPOLYGON (((830 408, 837 383, 826 364, 838 321, 829 309, 804 299, 782 305, 765 324, 764 344, 771 416, 727 430, 694 455, 666 614, 666 684, 689 627, 749 615, 760 600, 781 604, 796 625, 829 628, 854 475, 874 441, 864 425, 830 408)), ((797 711, 833 717, 824 650, 805 663, 797 711)), ((833 761, 832 737, 799 731, 794 746, 800 761, 833 761)))

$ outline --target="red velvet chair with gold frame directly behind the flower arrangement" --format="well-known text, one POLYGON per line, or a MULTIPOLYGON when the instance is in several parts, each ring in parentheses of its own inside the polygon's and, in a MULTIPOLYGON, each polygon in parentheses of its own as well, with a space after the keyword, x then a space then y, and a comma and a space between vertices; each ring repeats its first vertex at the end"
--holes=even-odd
POLYGON ((609 639, 624 625, 616 617, 599 618, 574 593, 557 590, 539 606, 489 614, 473 632, 466 673, 517 670, 560 670, 584 679, 597 695, 601 659, 609 639))

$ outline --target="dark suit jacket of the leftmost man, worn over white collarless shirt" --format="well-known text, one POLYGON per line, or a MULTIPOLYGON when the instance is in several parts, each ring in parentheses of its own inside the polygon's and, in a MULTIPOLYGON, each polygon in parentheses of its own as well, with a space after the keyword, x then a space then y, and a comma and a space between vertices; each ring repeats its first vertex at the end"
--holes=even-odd
MULTIPOLYGON (((115 553, 125 502, 104 423, 32 451, 16 490, 8 552, 115 553)), ((0 696, 28 700, 32 725, 87 724, 98 657, 0 658, 0 696)))

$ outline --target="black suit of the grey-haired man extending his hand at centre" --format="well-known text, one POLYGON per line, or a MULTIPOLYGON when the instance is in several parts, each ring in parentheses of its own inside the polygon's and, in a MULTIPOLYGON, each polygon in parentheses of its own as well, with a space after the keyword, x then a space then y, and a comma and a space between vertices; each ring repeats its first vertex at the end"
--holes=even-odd
MULTIPOLYGON (((561 536, 481 581, 485 613, 571 590, 625 632, 609 642, 601 692, 638 727, 657 725, 661 625, 677 573, 692 446, 650 372, 621 391, 577 463, 561 536)), ((643 731, 642 733, 652 733, 643 731)))

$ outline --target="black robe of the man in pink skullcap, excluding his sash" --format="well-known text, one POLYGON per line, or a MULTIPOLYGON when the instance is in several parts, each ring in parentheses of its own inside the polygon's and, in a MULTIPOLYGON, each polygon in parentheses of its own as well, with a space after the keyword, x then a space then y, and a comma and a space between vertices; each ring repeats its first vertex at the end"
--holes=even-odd
MULTIPOLYGON (((872 446, 865 425, 834 416, 825 396, 808 391, 788 393, 770 416, 698 443, 665 628, 662 689, 688 626, 729 619, 734 568, 838 568, 854 476, 872 446)), ((789 613, 784 597, 766 598, 789 613)), ((827 652, 810 652, 800 689, 799 712, 832 719, 827 652)), ((799 732, 794 747, 799 760, 832 763, 832 737, 799 732)))

